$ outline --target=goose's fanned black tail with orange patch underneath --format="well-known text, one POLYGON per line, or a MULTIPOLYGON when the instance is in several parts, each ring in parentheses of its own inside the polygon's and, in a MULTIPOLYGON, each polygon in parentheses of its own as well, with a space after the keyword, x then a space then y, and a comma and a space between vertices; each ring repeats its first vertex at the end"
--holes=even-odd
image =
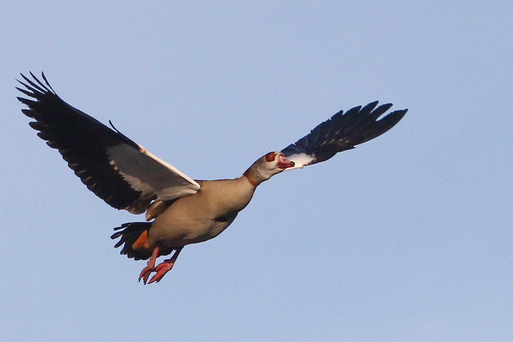
POLYGON ((126 254, 129 258, 135 260, 146 260, 151 257, 152 249, 148 245, 148 233, 151 228, 151 222, 129 222, 124 223, 121 227, 116 227, 114 230, 122 231, 115 232, 110 237, 121 239, 115 244, 115 248, 125 244, 121 249, 121 254, 126 254))

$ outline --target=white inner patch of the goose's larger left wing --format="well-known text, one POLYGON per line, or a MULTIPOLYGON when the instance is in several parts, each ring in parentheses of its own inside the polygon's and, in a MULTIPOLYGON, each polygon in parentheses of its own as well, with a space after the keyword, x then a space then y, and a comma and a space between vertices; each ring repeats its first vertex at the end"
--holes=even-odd
POLYGON ((135 190, 142 191, 141 198, 156 194, 169 200, 194 194, 200 185, 171 164, 139 145, 139 150, 129 145, 106 147, 111 164, 135 190))

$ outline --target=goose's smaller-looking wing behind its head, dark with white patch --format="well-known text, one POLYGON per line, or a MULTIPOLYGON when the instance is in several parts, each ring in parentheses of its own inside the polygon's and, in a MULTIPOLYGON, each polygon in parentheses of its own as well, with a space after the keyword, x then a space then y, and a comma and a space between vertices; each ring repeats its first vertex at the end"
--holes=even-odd
POLYGON ((282 153, 295 164, 294 167, 286 170, 324 162, 338 152, 365 143, 388 131, 408 111, 407 109, 396 110, 378 120, 392 107, 392 104, 376 108, 377 105, 378 101, 375 101, 363 108, 354 107, 346 113, 340 111, 312 129, 310 134, 284 148, 282 153))

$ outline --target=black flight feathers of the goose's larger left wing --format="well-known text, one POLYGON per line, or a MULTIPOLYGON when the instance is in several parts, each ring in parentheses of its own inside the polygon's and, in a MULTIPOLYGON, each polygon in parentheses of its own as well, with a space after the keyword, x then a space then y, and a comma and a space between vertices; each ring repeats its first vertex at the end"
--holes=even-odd
MULTIPOLYGON (((130 184, 111 165, 106 147, 129 145, 139 149, 136 143, 120 132, 103 125, 86 113, 68 105, 57 96, 45 75, 43 84, 32 73, 33 80, 22 74, 27 88, 17 88, 32 99, 18 97, 29 109, 22 112, 35 119, 30 127, 47 140, 48 146, 58 149, 68 166, 82 182, 107 204, 124 209, 139 202, 141 191, 130 184)), ((151 199, 144 199, 149 203, 151 199)))

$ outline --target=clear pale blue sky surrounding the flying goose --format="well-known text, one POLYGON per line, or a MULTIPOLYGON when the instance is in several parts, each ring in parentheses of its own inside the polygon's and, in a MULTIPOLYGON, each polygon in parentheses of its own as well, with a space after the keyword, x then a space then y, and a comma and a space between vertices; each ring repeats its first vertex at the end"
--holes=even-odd
POLYGON ((2 5, 3 340, 510 340, 513 3, 2 5), (236 177, 340 109, 389 132, 273 177, 159 284, 28 126, 58 95, 196 179, 236 177))

